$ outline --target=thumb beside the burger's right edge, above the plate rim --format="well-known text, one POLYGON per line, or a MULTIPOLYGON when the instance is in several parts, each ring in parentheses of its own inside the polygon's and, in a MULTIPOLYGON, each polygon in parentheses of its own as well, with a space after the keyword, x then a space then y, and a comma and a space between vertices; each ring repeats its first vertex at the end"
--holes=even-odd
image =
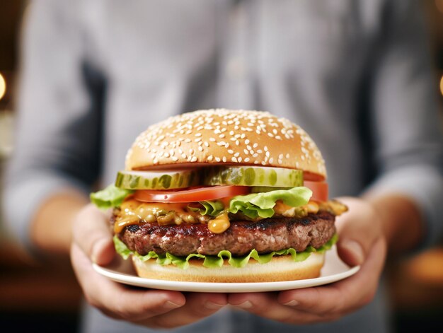
POLYGON ((375 241, 381 236, 379 218, 370 204, 356 198, 340 198, 349 208, 337 218, 337 252, 351 266, 363 264, 375 241))

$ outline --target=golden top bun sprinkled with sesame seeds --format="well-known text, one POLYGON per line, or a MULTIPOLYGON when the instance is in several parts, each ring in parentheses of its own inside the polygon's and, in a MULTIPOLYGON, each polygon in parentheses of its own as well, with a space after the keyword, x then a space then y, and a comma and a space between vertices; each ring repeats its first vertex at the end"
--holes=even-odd
POLYGON ((299 169, 308 179, 326 178, 311 137, 269 112, 212 109, 170 117, 140 134, 126 156, 126 170, 211 164, 299 169))

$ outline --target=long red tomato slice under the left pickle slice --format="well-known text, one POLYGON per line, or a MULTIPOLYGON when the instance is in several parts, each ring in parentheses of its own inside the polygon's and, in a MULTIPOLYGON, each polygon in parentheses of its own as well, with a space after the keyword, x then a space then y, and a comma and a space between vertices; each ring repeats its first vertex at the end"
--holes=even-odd
POLYGON ((136 191, 134 197, 139 201, 195 202, 234 197, 236 195, 248 194, 249 192, 251 192, 251 187, 224 185, 197 187, 193 189, 184 189, 181 191, 157 191, 154 189, 142 189, 136 191))

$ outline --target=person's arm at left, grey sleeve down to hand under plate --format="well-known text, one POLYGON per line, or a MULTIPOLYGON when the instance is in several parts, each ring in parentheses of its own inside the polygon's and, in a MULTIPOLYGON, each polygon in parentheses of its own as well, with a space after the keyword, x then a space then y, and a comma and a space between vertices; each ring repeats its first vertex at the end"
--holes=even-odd
POLYGON ((93 271, 92 261, 108 264, 115 251, 107 216, 86 204, 100 169, 102 121, 84 72, 78 4, 35 1, 27 16, 9 226, 34 253, 71 248, 86 300, 106 315, 150 327, 195 322, 222 308, 226 295, 132 289, 93 271))

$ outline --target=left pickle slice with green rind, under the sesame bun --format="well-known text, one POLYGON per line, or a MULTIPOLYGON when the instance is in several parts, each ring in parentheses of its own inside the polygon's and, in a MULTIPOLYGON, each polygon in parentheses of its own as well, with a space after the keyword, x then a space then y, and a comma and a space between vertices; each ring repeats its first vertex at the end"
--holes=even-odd
POLYGON ((197 170, 119 171, 115 186, 122 189, 182 189, 198 185, 197 170))

